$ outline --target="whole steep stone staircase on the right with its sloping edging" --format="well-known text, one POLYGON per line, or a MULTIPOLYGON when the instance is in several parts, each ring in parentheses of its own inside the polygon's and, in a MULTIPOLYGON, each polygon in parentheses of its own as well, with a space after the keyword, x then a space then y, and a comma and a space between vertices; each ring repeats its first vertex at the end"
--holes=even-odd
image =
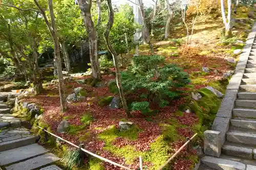
POLYGON ((256 24, 248 37, 251 43, 246 48, 249 50, 242 54, 245 60, 240 60, 237 75, 230 80, 233 84, 229 83, 213 131, 205 132, 206 156, 201 159, 200 170, 256 170, 255 34, 256 24), (241 69, 243 64, 245 68, 241 69))

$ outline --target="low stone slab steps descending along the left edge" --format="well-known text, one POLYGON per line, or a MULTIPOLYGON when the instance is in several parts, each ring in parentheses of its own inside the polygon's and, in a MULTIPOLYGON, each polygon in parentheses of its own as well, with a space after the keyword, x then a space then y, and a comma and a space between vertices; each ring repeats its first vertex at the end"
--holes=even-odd
MULTIPOLYGON (((60 158, 36 143, 37 137, 23 127, 5 104, 13 96, 0 92, 0 169, 1 170, 61 170, 54 165, 60 158)), ((15 97, 15 96, 14 96, 15 97)))

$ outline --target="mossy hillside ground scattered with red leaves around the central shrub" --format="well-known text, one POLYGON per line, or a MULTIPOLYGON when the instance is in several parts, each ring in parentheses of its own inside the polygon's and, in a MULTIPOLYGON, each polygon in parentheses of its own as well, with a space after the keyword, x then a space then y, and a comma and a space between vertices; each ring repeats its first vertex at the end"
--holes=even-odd
MULTIPOLYGON (((245 18, 242 11, 238 13, 242 15, 237 15, 236 18, 245 18)), ((142 156, 144 169, 157 169, 181 147, 187 137, 195 133, 202 137, 202 132, 214 119, 221 99, 202 88, 212 86, 225 92, 227 79, 223 79, 223 74, 236 66, 236 63, 227 59, 238 60, 238 55, 234 55, 233 51, 243 46, 235 41, 245 41, 248 34, 246 29, 249 29, 251 24, 252 21, 248 20, 246 26, 237 26, 233 29, 235 38, 224 40, 221 38, 222 19, 220 16, 209 15, 199 18, 189 45, 180 45, 173 40, 155 41, 155 53, 164 56, 166 63, 176 63, 182 67, 191 79, 191 86, 186 89, 187 93, 184 93, 183 98, 170 102, 169 106, 164 108, 151 104, 153 110, 158 110, 157 114, 145 116, 136 111, 132 112, 133 118, 127 119, 123 109, 112 110, 108 106, 99 106, 101 97, 117 95, 111 93, 108 86, 96 88, 75 81, 66 84, 66 94, 72 93, 72 89, 76 87, 83 87, 88 92, 86 101, 68 104, 69 109, 65 113, 60 112, 57 85, 47 86, 45 93, 23 100, 37 103, 44 109, 44 122, 54 133, 57 133, 56 129, 61 120, 67 119, 73 131, 57 133, 63 138, 76 144, 82 142, 89 151, 134 169, 139 165, 139 156, 142 156), (208 67, 210 71, 206 73, 202 71, 202 67, 208 67), (199 102, 190 98, 190 92, 198 89, 203 95, 202 101, 199 102), (191 112, 185 113, 186 107, 189 107, 191 112), (84 115, 92 116, 90 124, 84 125, 81 119, 84 115), (208 120, 207 123, 204 122, 205 119, 208 120), (124 133, 120 132, 118 123, 121 120, 129 120, 136 126, 124 133)), ((184 37, 185 30, 182 27, 173 27, 170 37, 184 37)), ((142 45, 140 54, 148 53, 148 46, 142 45)), ((131 56, 124 56, 125 64, 129 64, 131 56)), ((125 69, 125 66, 122 68, 125 69)), ((110 75, 104 75, 102 78, 103 82, 114 79, 110 75)), ((198 138, 197 143, 200 142, 201 139, 198 138)), ((183 150, 167 168, 188 170, 196 162, 195 150, 183 150)), ((89 169, 120 168, 92 159, 89 161, 89 169)))

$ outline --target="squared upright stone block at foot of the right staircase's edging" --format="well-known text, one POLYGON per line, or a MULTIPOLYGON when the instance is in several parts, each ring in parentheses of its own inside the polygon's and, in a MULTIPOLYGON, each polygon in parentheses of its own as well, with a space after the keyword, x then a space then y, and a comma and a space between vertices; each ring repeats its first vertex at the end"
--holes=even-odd
POLYGON ((221 132, 206 130, 204 132, 204 153, 210 156, 221 155, 221 132))

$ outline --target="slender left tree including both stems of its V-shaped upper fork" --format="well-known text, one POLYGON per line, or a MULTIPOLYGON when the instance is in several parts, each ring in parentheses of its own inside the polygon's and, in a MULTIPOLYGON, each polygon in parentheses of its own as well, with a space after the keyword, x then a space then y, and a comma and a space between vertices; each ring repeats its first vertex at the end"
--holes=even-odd
POLYGON ((59 40, 58 40, 58 32, 57 27, 55 23, 55 16, 53 12, 53 5, 52 0, 48 0, 48 6, 50 11, 50 18, 51 18, 51 24, 46 16, 45 9, 41 7, 41 5, 37 2, 37 0, 34 0, 36 6, 39 8, 42 16, 45 19, 46 25, 48 27, 48 30, 51 33, 53 42, 54 42, 54 59, 56 62, 57 67, 57 76, 59 81, 59 98, 60 98, 60 107, 61 111, 65 111, 67 109, 67 104, 65 102, 65 89, 64 89, 64 82, 63 82, 63 76, 62 76, 62 66, 61 66, 61 58, 60 58, 60 48, 59 48, 59 40))

